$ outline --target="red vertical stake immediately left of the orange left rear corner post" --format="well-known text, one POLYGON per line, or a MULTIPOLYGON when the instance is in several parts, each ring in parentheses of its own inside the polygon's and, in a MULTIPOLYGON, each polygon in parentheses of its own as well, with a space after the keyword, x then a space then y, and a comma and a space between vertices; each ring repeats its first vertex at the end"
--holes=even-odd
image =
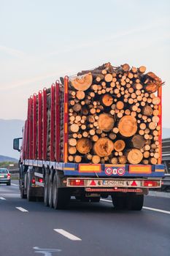
POLYGON ((60 89, 59 81, 55 82, 55 159, 60 162, 60 89))

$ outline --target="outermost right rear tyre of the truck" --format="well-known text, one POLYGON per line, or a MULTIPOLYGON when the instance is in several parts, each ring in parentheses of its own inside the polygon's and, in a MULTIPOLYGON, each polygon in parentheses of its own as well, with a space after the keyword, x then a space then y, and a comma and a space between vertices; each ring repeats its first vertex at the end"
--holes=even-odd
POLYGON ((144 195, 130 194, 128 196, 128 209, 132 211, 141 211, 144 204, 144 195))

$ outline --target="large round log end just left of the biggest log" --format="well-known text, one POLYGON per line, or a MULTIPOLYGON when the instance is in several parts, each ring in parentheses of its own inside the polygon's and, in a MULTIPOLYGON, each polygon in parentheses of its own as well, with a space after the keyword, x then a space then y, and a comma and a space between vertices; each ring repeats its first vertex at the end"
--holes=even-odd
POLYGON ((98 127, 104 132, 109 132, 114 127, 114 124, 114 118, 107 113, 102 113, 98 118, 98 127))

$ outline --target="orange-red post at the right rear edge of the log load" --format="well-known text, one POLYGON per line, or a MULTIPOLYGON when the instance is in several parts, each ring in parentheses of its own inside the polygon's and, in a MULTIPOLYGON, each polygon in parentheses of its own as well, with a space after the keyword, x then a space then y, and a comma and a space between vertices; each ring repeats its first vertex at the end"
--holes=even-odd
POLYGON ((158 97, 160 98, 160 103, 158 105, 159 110, 159 122, 158 125, 161 127, 161 129, 158 132, 159 137, 159 158, 158 158, 158 165, 161 165, 162 163, 162 86, 158 89, 158 97))

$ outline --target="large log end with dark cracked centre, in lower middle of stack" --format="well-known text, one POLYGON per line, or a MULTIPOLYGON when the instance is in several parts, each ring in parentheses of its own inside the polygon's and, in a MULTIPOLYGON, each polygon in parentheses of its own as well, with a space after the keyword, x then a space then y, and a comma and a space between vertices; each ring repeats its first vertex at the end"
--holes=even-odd
POLYGON ((108 138, 99 138, 93 146, 94 152, 99 157, 108 157, 114 149, 114 143, 108 138))

